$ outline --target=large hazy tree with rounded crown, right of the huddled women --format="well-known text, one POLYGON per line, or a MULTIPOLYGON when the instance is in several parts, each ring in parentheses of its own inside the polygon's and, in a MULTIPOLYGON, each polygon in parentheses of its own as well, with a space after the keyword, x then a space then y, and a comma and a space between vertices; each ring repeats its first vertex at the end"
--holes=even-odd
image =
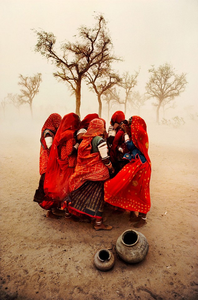
POLYGON ((171 101, 185 91, 186 73, 177 75, 170 63, 160 65, 157 69, 152 66, 148 72, 151 73, 151 77, 146 83, 146 92, 150 98, 157 100, 156 123, 159 124, 159 109, 162 102, 166 99, 171 101))

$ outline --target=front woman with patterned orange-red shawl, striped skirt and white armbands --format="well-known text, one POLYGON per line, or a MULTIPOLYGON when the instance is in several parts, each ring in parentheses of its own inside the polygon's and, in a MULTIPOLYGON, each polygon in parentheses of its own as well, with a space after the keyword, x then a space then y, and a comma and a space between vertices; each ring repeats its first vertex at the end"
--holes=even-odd
POLYGON ((75 172, 70 178, 70 194, 62 208, 67 213, 87 215, 95 219, 95 230, 111 230, 112 226, 102 223, 104 207, 104 181, 113 168, 107 155, 107 145, 103 138, 104 122, 94 119, 82 136, 78 148, 75 172))

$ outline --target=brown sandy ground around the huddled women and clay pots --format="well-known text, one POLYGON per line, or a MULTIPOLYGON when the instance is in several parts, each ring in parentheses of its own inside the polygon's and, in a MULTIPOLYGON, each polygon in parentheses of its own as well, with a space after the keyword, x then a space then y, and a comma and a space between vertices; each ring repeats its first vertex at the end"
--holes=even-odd
POLYGON ((168 300, 198 298, 197 123, 173 129, 148 126, 152 163, 151 211, 139 229, 149 243, 146 259, 128 264, 116 255, 129 213, 105 209, 109 232, 90 224, 50 220, 33 202, 39 182, 40 126, 2 122, 0 299, 168 300), (192 130, 192 128, 195 128, 192 130), (27 134, 28 132, 28 134, 27 134), (112 270, 93 258, 112 248, 112 270))

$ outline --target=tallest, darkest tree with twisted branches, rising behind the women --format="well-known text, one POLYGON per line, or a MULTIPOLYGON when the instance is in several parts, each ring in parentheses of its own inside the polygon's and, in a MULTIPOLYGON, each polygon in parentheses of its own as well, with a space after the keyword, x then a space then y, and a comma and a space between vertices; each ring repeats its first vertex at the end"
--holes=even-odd
POLYGON ((76 113, 80 116, 81 83, 87 71, 93 66, 108 60, 111 40, 106 33, 106 22, 103 16, 95 17, 93 28, 78 28, 79 41, 65 42, 61 46, 61 54, 55 50, 56 37, 52 32, 34 32, 37 35, 35 51, 51 60, 57 68, 54 77, 69 84, 76 96, 76 113))

